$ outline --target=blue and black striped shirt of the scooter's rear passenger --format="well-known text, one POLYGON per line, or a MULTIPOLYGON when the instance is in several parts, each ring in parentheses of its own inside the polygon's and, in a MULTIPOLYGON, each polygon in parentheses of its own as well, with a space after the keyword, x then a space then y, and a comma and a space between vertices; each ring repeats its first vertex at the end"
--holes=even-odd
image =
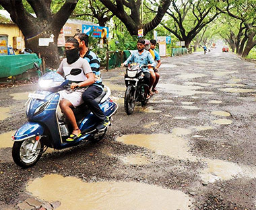
POLYGON ((94 77, 95 77, 94 85, 102 87, 102 78, 100 74, 100 60, 98 59, 97 55, 91 50, 88 50, 86 52, 86 55, 84 55, 84 59, 88 61, 92 69, 92 72, 94 73, 94 77))

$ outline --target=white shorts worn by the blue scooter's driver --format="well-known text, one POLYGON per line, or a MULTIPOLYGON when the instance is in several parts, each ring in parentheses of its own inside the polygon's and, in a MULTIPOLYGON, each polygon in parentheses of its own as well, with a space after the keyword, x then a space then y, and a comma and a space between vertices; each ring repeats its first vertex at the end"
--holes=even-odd
POLYGON ((61 90, 59 92, 59 95, 60 95, 60 100, 63 100, 63 99, 69 100, 69 102, 71 102, 73 107, 77 107, 84 103, 84 100, 82 99, 83 93, 84 92, 81 92, 81 91, 70 92, 67 90, 61 90))

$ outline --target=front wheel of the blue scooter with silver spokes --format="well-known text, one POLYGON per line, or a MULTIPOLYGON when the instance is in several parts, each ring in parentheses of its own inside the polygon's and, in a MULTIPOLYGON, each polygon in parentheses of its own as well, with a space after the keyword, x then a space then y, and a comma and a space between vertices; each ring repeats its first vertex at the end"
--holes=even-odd
POLYGON ((12 157, 15 164, 22 168, 34 166, 40 159, 43 152, 43 145, 35 138, 24 141, 15 141, 12 147, 12 157))

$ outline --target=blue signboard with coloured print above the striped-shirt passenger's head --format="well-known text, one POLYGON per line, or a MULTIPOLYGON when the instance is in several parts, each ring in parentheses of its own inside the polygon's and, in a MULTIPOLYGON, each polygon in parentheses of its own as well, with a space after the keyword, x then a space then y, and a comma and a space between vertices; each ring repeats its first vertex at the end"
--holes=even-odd
POLYGON ((108 38, 108 27, 82 25, 82 32, 96 38, 108 38))

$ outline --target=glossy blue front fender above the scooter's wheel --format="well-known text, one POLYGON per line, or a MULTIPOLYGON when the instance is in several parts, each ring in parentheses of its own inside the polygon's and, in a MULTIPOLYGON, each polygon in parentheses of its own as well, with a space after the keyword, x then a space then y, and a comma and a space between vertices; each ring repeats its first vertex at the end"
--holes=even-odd
POLYGON ((27 122, 22 125, 18 131, 16 131, 13 141, 23 141, 36 135, 42 135, 44 133, 44 127, 37 122, 27 122))

